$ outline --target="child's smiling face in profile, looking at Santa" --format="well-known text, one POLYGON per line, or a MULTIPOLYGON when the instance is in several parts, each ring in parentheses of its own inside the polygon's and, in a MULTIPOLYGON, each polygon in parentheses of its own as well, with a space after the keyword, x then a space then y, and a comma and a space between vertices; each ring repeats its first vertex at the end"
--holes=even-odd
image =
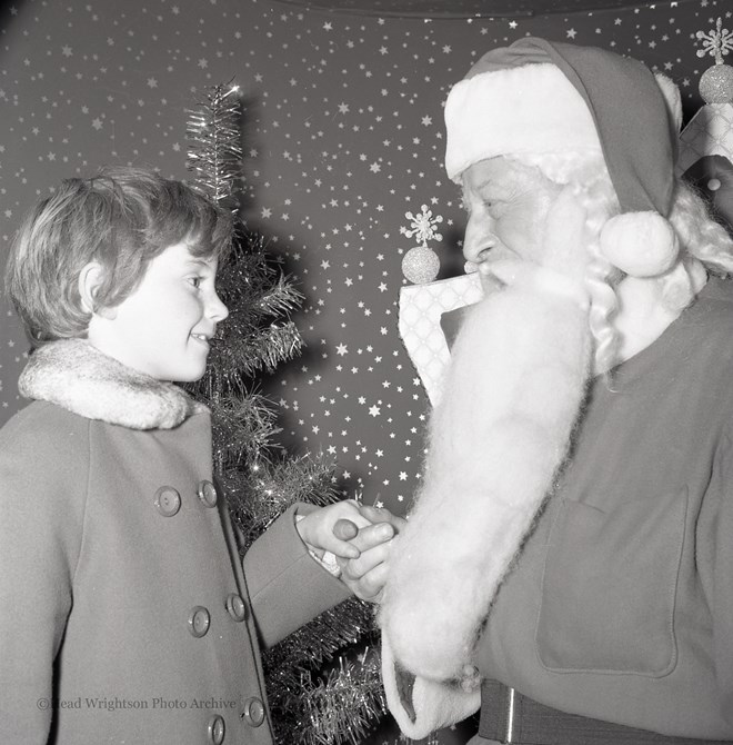
POLYGON ((150 261, 129 297, 106 317, 94 316, 90 341, 159 380, 198 380, 209 339, 229 315, 217 295, 215 276, 215 259, 194 257, 185 242, 169 246, 150 261))

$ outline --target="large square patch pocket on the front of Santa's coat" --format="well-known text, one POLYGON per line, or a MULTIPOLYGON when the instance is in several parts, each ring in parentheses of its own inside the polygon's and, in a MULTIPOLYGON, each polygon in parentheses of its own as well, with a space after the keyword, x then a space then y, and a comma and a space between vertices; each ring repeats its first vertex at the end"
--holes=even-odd
POLYGON ((686 488, 644 495, 610 511, 562 500, 535 636, 548 669, 652 677, 674 669, 686 510, 686 488))

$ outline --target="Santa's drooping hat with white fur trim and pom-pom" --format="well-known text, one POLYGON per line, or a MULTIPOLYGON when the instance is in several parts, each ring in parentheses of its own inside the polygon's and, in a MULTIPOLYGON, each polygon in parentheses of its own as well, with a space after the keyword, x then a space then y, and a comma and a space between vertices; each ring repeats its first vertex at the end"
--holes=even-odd
POLYGON ((621 213, 601 250, 636 277, 676 260, 666 220, 682 113, 669 78, 593 47, 526 38, 484 54, 445 102, 445 168, 460 182, 469 166, 496 156, 598 152, 621 213))

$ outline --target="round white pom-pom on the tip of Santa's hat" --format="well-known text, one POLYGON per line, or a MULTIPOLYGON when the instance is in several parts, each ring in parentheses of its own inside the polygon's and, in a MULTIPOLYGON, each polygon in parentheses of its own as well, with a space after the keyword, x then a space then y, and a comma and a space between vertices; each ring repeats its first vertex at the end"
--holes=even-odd
POLYGON ((674 265, 680 247, 674 229, 659 212, 626 212, 603 226, 601 252, 632 277, 656 277, 674 265))

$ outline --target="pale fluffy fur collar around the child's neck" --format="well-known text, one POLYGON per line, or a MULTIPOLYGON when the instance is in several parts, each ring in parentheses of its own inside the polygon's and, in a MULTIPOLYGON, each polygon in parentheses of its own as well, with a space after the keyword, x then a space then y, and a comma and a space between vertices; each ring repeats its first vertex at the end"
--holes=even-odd
POLYGON ((130 429, 172 429, 208 411, 172 383, 125 367, 86 339, 61 339, 37 349, 18 388, 26 398, 130 429))

